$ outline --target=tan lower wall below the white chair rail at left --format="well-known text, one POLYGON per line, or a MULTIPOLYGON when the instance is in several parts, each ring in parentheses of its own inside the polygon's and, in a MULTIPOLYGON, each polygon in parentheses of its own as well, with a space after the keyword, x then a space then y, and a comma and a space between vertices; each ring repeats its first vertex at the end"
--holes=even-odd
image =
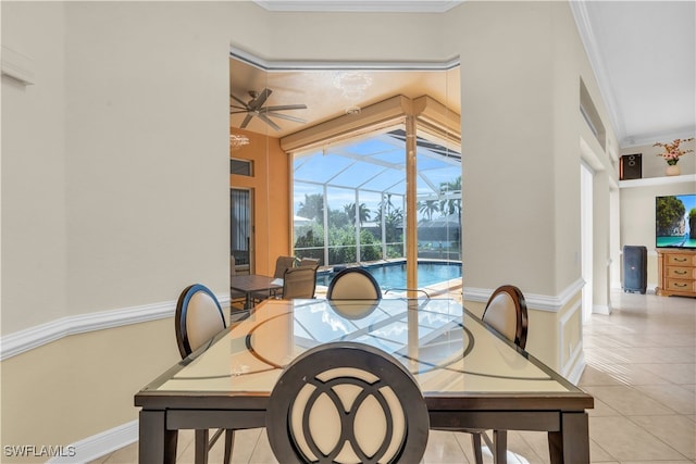
POLYGON ((10 358, 2 362, 2 446, 66 446, 137 419, 134 394, 179 359, 172 318, 10 358))

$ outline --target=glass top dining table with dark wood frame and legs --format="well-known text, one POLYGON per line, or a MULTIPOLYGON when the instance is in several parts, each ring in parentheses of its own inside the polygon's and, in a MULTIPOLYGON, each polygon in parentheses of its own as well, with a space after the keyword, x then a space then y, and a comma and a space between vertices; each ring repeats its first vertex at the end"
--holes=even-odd
POLYGON ((550 462, 589 462, 593 398, 449 299, 264 301, 136 393, 140 462, 174 462, 178 429, 264 427, 283 368, 332 341, 399 360, 433 429, 544 430, 550 462))

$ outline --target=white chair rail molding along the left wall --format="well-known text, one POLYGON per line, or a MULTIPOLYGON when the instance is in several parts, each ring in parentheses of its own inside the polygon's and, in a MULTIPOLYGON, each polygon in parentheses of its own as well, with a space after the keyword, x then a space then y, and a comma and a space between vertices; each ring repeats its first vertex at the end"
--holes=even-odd
MULTIPOLYGON (((229 303, 229 294, 215 294, 223 306, 229 303)), ((176 301, 142 304, 111 311, 100 311, 61 317, 34 327, 28 327, 0 338, 0 361, 50 343, 70 335, 141 324, 173 317, 176 301)))

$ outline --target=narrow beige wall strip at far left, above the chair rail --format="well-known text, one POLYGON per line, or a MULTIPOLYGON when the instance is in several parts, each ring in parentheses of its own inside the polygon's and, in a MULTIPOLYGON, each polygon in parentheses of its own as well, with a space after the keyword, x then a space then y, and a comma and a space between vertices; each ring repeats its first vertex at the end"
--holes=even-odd
POLYGON ((64 5, 1 8, 2 47, 29 55, 36 76, 32 86, 2 76, 4 335, 66 311, 69 205, 64 5))

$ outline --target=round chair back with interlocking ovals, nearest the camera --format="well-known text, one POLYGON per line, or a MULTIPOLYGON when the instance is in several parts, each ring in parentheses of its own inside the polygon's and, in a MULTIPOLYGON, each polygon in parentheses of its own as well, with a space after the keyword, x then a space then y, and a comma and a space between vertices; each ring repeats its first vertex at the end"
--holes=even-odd
POLYGON ((418 463, 428 430, 411 373, 358 342, 324 343, 296 358, 266 410, 269 442, 282 463, 418 463))

